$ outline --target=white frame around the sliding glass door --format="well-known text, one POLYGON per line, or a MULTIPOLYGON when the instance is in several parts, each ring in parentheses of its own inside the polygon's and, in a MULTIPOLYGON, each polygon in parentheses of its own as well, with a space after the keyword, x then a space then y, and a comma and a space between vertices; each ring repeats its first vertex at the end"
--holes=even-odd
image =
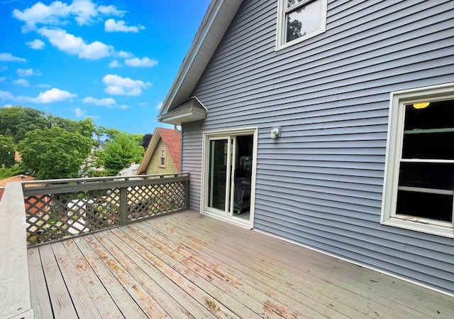
POLYGON ((218 131, 204 131, 202 139, 202 158, 201 158, 201 193, 200 193, 200 213, 202 215, 208 215, 215 217, 219 220, 230 222, 231 224, 238 225, 246 229, 253 229, 254 225, 254 211, 255 211, 255 178, 257 171, 257 149, 258 149, 258 127, 246 127, 243 129, 227 129, 218 131), (250 180, 250 217, 248 220, 243 220, 240 217, 224 216, 209 211, 208 207, 208 196, 209 191, 209 139, 221 138, 224 136, 241 136, 241 135, 252 135, 253 136, 253 163, 250 180))

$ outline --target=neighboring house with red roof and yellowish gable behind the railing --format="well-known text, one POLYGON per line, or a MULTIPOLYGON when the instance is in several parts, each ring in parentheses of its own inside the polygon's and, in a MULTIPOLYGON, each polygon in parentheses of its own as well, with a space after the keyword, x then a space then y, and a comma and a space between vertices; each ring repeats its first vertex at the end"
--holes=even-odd
POLYGON ((182 134, 176 129, 157 127, 143 154, 138 168, 140 174, 167 174, 181 171, 182 134))

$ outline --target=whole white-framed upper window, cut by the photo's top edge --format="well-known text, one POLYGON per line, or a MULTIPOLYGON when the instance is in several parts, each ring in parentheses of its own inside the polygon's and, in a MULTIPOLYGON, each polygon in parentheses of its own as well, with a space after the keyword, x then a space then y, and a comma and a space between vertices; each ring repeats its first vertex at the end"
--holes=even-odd
POLYGON ((323 33, 327 0, 279 0, 276 49, 323 33))

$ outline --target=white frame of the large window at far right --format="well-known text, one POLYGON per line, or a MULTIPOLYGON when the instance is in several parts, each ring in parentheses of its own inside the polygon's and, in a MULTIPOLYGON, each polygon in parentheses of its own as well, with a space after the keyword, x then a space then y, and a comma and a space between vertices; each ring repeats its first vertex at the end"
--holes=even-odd
MULTIPOLYGON (((399 166, 402 161, 402 141, 404 136, 404 110, 406 104, 435 102, 454 99, 454 83, 420 87, 411 90, 392 92, 389 105, 387 153, 384 167, 384 188, 380 222, 383 225, 401 227, 429 234, 454 238, 454 223, 409 217, 396 214, 399 166)), ((418 161, 413 160, 413 161, 418 161)), ((432 160, 438 162, 438 160, 432 160)), ((451 161, 443 161, 447 163, 451 161)), ((454 163, 454 161, 452 161, 454 163)), ((446 191, 449 193, 450 191, 446 191)))

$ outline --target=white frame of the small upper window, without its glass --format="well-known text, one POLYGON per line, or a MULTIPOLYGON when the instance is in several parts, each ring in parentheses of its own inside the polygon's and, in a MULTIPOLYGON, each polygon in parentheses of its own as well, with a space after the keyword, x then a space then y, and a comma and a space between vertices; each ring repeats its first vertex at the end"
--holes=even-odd
POLYGON ((291 45, 295 45, 300 43, 304 40, 312 38, 314 36, 319 35, 326 31, 326 10, 328 7, 328 0, 304 0, 301 1, 299 4, 293 6, 290 9, 286 8, 287 0, 278 0, 277 5, 277 35, 276 35, 276 50, 281 50, 283 48, 288 48, 291 45), (319 20, 319 30, 314 31, 312 33, 306 34, 306 36, 301 36, 300 38, 294 39, 292 41, 286 42, 285 37, 285 28, 287 23, 287 13, 294 11, 295 8, 299 8, 300 6, 306 6, 307 4, 320 1, 320 20, 319 20))

